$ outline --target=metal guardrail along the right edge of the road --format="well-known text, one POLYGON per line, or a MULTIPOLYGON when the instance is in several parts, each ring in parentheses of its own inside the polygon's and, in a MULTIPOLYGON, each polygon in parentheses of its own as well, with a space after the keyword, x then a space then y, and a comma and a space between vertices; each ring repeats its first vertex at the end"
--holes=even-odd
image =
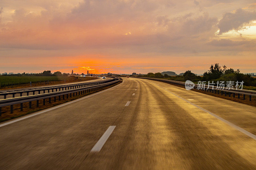
MULTIPOLYGON (((174 81, 174 80, 165 80, 165 79, 156 79, 156 78, 148 78, 148 77, 133 77, 133 78, 140 78, 140 79, 148 79, 148 80, 154 80, 154 81, 161 81, 164 83, 168 83, 168 84, 172 84, 172 85, 178 85, 178 86, 182 86, 185 88, 185 82, 181 82, 181 81, 174 81)), ((210 90, 210 92, 212 93, 218 93, 221 95, 224 93, 225 96, 228 95, 229 97, 233 94, 233 97, 237 97, 240 99, 240 95, 244 95, 243 99, 245 100, 245 95, 249 96, 249 100, 252 100, 252 96, 256 96, 256 91, 254 90, 243 90, 243 89, 229 89, 229 88, 223 88, 223 89, 219 89, 219 87, 217 86, 208 86, 208 85, 204 85, 204 88, 201 88, 202 85, 200 84, 195 84, 194 89, 197 90, 204 90, 204 91, 208 91, 210 90)))

